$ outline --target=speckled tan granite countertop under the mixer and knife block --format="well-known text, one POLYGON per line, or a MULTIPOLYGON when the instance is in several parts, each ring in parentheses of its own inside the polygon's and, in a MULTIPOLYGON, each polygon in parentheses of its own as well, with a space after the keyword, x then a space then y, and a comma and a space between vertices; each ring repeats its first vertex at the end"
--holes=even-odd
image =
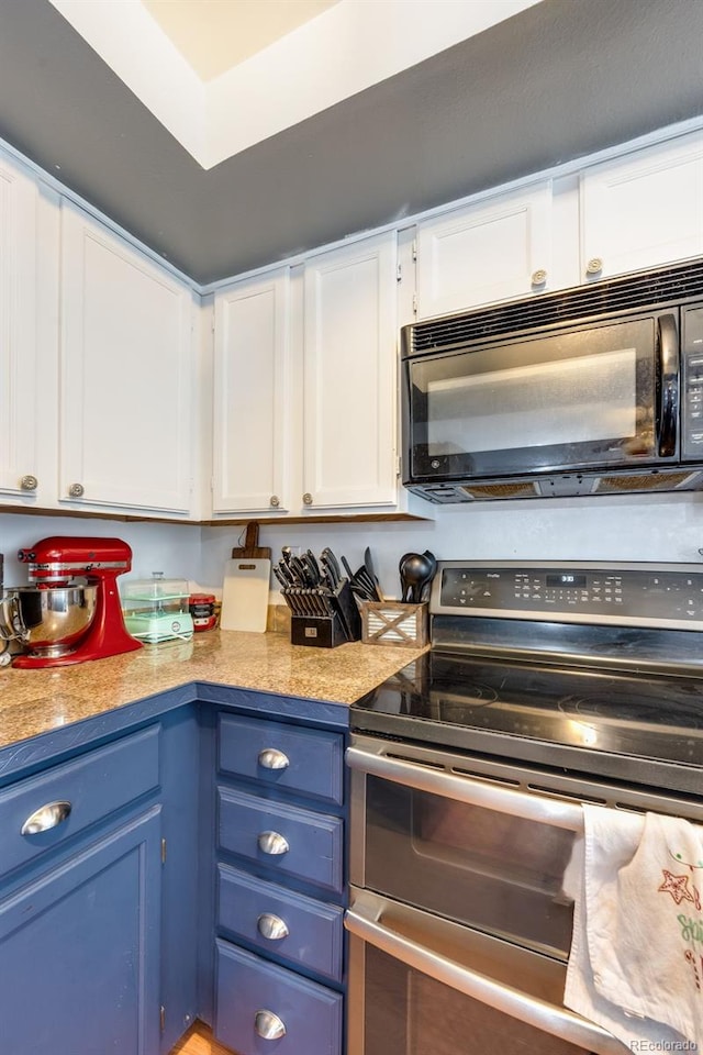
POLYGON ((193 681, 354 703, 425 648, 291 645, 281 633, 209 631, 65 667, 0 669, 0 748, 193 681))

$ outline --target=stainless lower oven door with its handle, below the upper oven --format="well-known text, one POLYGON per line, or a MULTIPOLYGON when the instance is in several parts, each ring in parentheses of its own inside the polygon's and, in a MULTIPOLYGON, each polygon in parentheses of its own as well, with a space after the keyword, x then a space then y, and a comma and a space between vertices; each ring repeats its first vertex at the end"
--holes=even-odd
POLYGON ((626 1055, 549 956, 352 889, 347 1055, 626 1055))

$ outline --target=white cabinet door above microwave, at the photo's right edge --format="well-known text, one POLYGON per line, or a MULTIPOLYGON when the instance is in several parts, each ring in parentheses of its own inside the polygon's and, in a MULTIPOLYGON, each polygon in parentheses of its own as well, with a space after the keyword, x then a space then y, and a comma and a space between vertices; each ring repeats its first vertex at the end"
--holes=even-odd
POLYGON ((582 279, 703 253, 703 131, 588 168, 582 279))

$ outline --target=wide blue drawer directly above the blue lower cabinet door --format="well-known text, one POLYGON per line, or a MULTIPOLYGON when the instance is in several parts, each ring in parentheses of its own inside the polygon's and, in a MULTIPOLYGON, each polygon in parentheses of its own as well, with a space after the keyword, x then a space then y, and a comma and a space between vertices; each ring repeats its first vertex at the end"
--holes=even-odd
POLYGON ((153 725, 0 791, 0 875, 40 858, 157 788, 159 731, 153 725), (55 803, 68 804, 64 820, 47 831, 22 834, 30 817, 55 803))

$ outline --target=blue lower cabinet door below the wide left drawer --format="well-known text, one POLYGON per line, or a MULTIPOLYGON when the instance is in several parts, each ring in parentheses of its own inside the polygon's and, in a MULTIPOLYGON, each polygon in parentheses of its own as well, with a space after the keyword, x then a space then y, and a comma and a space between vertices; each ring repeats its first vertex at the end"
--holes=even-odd
POLYGON ((160 808, 0 901, 2 1055, 159 1050, 160 808))

